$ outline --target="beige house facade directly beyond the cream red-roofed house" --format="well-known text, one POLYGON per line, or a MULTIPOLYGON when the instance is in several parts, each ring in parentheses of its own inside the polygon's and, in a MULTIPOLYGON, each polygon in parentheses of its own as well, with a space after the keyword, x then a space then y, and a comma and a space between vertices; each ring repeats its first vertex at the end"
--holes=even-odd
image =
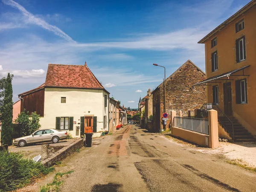
POLYGON ((115 99, 109 98, 109 132, 116 131, 116 119, 119 119, 119 113, 116 113, 116 107, 119 104, 115 99))

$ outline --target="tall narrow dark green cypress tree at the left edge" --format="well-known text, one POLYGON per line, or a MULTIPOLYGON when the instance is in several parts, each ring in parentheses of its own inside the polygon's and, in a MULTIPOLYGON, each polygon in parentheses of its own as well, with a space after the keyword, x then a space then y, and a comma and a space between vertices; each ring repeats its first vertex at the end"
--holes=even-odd
POLYGON ((12 111, 13 111, 13 102, 12 102, 12 77, 8 73, 8 76, 5 81, 5 90, 3 98, 3 113, 2 113, 2 133, 1 141, 2 144, 12 145, 12 111))

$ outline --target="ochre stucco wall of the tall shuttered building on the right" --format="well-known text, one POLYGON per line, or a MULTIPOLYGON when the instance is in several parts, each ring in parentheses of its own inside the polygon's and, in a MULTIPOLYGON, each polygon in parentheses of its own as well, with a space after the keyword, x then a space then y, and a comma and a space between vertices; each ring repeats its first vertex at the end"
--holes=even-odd
MULTIPOLYGON (((250 65, 244 70, 245 75, 248 76, 230 76, 232 87, 232 108, 233 116, 244 125, 252 134, 256 135, 256 6, 245 12, 236 20, 229 23, 224 29, 217 32, 214 36, 205 42, 206 55, 206 75, 207 78, 216 76, 231 70, 239 69, 241 67, 250 65), (244 29, 236 33, 235 24, 244 19, 244 29), (245 36, 245 50, 246 60, 236 63, 236 39, 245 36), (211 40, 217 37, 217 46, 211 48, 211 40), (211 54, 218 51, 218 70, 212 72, 211 68, 211 54), (239 79, 247 79, 247 103, 236 104, 236 86, 235 81, 239 79)), ((242 74, 242 71, 235 75, 242 74)), ((219 87, 219 107, 224 111, 223 98, 223 83, 210 85, 218 85, 219 87)), ((212 86, 207 88, 207 102, 212 102, 212 86)))

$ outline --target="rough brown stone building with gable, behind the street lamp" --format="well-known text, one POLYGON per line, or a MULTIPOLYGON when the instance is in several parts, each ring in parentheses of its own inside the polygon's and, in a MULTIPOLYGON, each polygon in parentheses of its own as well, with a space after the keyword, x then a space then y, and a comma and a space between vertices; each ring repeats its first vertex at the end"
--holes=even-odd
MULTIPOLYGON (((205 73, 192 61, 188 60, 166 79, 166 112, 172 110, 182 111, 187 116, 188 110, 201 108, 206 103, 206 90, 204 86, 192 87, 195 82, 206 78, 205 73)), ((153 92, 153 131, 159 132, 164 128, 163 114, 163 83, 153 92)), ((178 114, 177 114, 178 116, 178 114)), ((169 128, 170 121, 166 123, 169 128)))

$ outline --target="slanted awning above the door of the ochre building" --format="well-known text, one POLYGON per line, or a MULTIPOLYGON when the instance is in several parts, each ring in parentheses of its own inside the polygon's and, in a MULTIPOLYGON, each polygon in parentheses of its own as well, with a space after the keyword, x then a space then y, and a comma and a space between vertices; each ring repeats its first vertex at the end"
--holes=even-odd
POLYGON ((244 75, 244 69, 249 67, 249 66, 250 65, 247 65, 245 67, 241 67, 239 69, 236 69, 236 70, 233 70, 233 71, 230 71, 230 72, 227 72, 227 73, 222 73, 222 74, 220 74, 218 76, 210 77, 208 79, 205 79, 204 81, 201 81, 201 82, 198 82, 196 84, 193 84, 192 86, 203 85, 203 84, 206 85, 206 83, 209 83, 211 81, 215 81, 216 82, 216 80, 232 80, 232 79, 229 79, 229 76, 249 76, 249 75, 244 75), (243 74, 242 75, 232 75, 233 73, 239 72, 241 70, 243 70, 243 74), (225 78, 225 77, 227 77, 227 79, 222 79, 222 78, 225 78))

